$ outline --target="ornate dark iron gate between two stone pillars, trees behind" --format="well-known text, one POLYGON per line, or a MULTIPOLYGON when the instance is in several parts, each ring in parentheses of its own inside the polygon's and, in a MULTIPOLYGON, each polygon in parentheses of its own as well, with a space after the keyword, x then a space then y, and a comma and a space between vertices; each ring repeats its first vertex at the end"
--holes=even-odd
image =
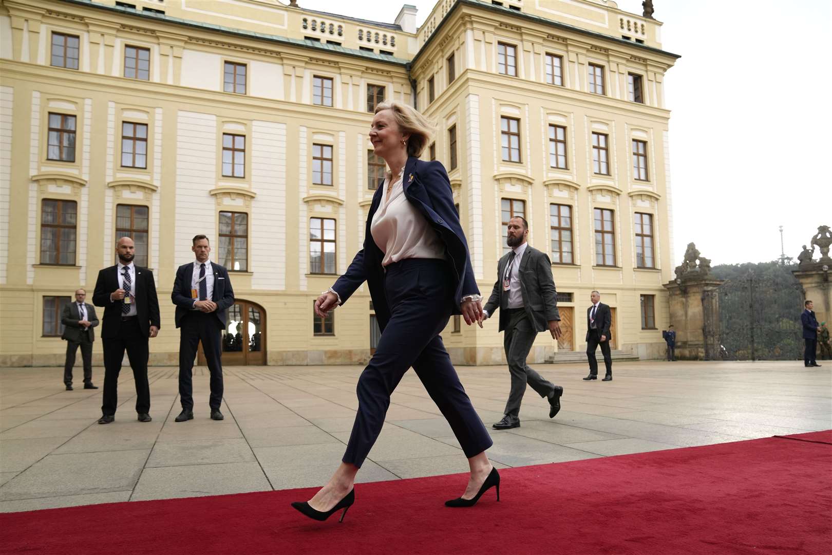
POLYGON ((729 360, 796 360, 803 356, 800 310, 803 289, 783 271, 750 268, 719 288, 720 357, 729 360))

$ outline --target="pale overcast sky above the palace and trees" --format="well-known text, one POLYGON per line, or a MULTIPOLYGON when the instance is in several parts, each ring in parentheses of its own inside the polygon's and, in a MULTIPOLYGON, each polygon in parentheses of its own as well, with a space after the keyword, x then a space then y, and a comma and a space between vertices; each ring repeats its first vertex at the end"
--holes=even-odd
MULTIPOLYGON (((559 0, 550 0, 558 2, 559 0)), ((299 0, 301 7, 393 22, 434 0, 299 0)), ((829 0, 654 0, 671 111, 674 265, 696 242, 712 264, 775 260, 783 226, 795 259, 832 225, 829 0)), ((641 0, 618 7, 641 14, 641 0)), ((819 256, 815 250, 815 259, 819 256)))

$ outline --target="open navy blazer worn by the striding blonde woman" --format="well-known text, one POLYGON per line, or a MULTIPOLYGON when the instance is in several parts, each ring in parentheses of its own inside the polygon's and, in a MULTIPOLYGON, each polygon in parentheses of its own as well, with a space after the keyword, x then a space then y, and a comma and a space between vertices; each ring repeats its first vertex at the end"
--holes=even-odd
MULTIPOLYGON (((459 223, 456 206, 453 206, 453 191, 451 182, 448 180, 448 173, 438 161, 421 161, 410 156, 404 165, 402 185, 404 196, 428 220, 445 244, 445 253, 450 260, 456 280, 452 314, 462 314, 460 303, 463 296, 479 295, 479 288, 473 276, 471 256, 468 254, 468 241, 465 240, 462 225, 459 223)), ((384 253, 375 244, 369 228, 375 211, 379 209, 384 192, 384 187, 379 186, 369 207, 364 232, 364 248, 359 250, 346 273, 340 276, 332 286, 338 291, 343 305, 350 295, 366 281, 381 330, 384 330, 384 326, 390 320, 390 309, 384 295, 384 269, 381 265, 384 253)))

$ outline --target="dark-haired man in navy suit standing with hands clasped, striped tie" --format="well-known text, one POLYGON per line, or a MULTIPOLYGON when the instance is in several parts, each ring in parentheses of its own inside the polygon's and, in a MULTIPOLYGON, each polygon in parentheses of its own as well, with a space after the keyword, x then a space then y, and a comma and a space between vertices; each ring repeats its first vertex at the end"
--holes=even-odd
POLYGON ((225 329, 226 311, 234 305, 234 290, 228 270, 210 261, 210 244, 205 235, 196 235, 191 240, 191 250, 196 260, 176 270, 171 292, 171 300, 176 305, 176 327, 181 330, 179 396, 182 412, 175 420, 184 422, 194 418, 191 370, 200 341, 210 370, 210 418, 222 420, 222 330, 225 329))

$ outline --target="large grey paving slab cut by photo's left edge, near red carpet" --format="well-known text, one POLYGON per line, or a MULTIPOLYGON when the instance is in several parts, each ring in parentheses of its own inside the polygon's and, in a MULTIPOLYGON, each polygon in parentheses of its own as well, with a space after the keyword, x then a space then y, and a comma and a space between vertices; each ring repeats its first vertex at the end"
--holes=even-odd
POLYGON ((148 450, 48 455, 0 487, 0 501, 133 488, 148 450))

